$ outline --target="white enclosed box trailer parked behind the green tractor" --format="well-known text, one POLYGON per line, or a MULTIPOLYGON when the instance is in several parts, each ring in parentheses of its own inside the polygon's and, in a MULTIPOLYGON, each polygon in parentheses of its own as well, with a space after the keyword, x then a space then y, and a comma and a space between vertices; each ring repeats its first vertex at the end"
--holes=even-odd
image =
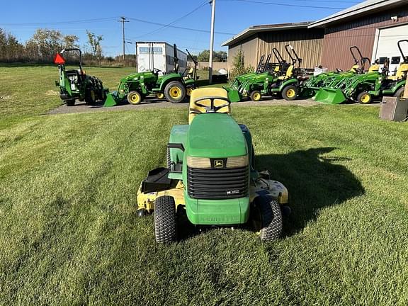
MULTIPOLYGON (((167 42, 136 42, 137 72, 159 69, 161 74, 174 71, 174 47, 167 42)), ((187 67, 187 54, 177 49, 179 72, 187 67)))

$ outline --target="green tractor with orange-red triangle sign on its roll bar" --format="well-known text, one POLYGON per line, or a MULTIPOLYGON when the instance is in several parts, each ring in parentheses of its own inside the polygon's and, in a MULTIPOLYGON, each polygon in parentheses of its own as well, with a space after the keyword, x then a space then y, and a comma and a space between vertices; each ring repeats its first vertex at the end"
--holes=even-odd
POLYGON ((55 86, 60 87, 60 98, 67 106, 74 106, 75 101, 86 101, 93 105, 96 101, 104 101, 109 89, 104 89, 102 81, 97 77, 85 74, 82 69, 82 52, 78 48, 64 49, 57 53, 54 63, 58 64, 60 81, 55 81, 55 86), (67 70, 65 68, 64 54, 68 52, 79 53, 79 69, 67 70))

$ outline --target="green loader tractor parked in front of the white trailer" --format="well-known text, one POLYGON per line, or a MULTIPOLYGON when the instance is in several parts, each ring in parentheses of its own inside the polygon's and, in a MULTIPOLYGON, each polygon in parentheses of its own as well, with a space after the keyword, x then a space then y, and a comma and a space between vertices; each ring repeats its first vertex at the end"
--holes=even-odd
MULTIPOLYGON (((191 57, 189 52, 188 55, 191 57)), ((171 103, 180 103, 196 88, 198 63, 196 60, 193 61, 195 66, 192 72, 186 76, 184 75, 186 72, 179 73, 177 47, 174 45, 174 72, 159 76, 161 70, 154 68, 153 71, 130 74, 120 80, 116 91, 108 94, 104 106, 115 106, 125 100, 137 105, 152 94, 160 99, 166 98, 171 103)))

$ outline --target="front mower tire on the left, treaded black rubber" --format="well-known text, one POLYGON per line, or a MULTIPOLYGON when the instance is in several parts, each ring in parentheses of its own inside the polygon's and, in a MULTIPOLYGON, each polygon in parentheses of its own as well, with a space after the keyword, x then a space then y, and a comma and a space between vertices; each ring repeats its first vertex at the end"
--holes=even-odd
POLYGON ((176 205, 171 196, 160 196, 154 204, 154 234, 156 242, 171 243, 177 239, 176 205))

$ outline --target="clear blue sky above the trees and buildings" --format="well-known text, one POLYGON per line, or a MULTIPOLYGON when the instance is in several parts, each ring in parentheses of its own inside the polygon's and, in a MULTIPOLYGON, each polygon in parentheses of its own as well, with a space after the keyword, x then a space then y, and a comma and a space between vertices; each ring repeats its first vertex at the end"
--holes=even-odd
MULTIPOLYGON (((1 5, 0 28, 12 33, 21 42, 28 40, 37 28, 52 28, 61 30, 64 34, 78 35, 81 46, 86 43, 86 30, 90 30, 103 35, 102 46, 105 55, 118 55, 122 50, 122 29, 121 23, 116 20, 120 16, 169 24, 200 6, 190 15, 173 23, 173 26, 210 30, 211 6, 208 2, 204 0, 39 0, 27 1, 27 4, 24 4, 23 1, 6 1, 1 5), (104 19, 101 20, 102 18, 104 19)), ((216 0, 215 31, 236 34, 254 25, 314 21, 358 2, 361 0, 216 0), (320 8, 295 5, 320 6, 320 8)), ((164 28, 130 19, 129 23, 125 23, 125 35, 129 42, 166 41, 176 43, 181 49, 188 47, 192 53, 209 49, 209 33, 181 28, 164 28)), ((221 44, 232 35, 222 33, 215 34, 215 50, 227 50, 221 47, 221 44)), ((134 45, 127 44, 126 50, 127 53, 134 53, 134 45)))

